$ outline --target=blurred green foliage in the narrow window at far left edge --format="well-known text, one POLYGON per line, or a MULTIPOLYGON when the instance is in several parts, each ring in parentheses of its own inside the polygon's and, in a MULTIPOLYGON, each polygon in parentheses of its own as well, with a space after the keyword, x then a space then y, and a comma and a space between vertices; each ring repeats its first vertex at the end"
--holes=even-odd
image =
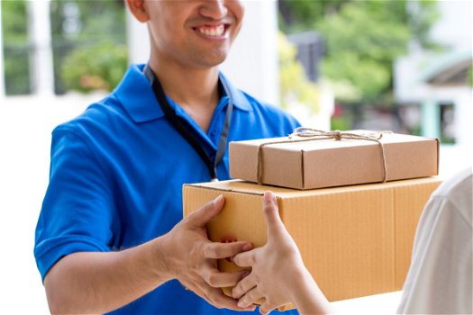
POLYGON ((2 1, 1 5, 5 61, 5 94, 28 94, 31 91, 31 87, 26 1, 2 1))

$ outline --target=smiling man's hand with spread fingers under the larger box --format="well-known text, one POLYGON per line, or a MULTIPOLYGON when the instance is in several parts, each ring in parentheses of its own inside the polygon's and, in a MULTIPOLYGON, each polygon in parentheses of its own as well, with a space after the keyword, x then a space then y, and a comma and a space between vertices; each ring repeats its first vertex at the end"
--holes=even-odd
POLYGON ((172 278, 215 307, 253 311, 254 306, 241 308, 237 300, 224 295, 220 289, 237 284, 248 272, 221 273, 217 268, 217 259, 233 257, 252 248, 245 241, 214 243, 207 238, 205 225, 222 211, 224 203, 221 195, 180 221, 165 236, 166 257, 163 259, 172 278))

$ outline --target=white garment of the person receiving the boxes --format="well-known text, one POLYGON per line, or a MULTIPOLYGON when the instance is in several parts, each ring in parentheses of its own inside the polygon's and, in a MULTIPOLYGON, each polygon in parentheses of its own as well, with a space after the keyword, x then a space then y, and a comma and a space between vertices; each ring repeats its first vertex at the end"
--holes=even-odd
POLYGON ((472 314, 472 170, 442 183, 425 205, 397 313, 472 314))

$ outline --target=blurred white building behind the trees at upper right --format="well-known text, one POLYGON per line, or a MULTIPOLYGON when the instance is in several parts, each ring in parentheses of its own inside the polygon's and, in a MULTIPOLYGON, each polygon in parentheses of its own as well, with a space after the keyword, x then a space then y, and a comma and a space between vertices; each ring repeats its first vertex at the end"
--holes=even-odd
POLYGON ((405 106, 406 121, 422 126, 423 136, 471 152, 473 7, 470 1, 439 1, 438 5, 441 18, 431 36, 444 49, 427 52, 413 42, 409 54, 394 65, 394 94, 405 106))

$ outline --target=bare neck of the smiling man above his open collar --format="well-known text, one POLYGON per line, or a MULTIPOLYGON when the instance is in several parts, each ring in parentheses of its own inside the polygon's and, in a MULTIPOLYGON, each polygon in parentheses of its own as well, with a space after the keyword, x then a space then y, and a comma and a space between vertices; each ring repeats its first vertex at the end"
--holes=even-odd
POLYGON ((189 68, 153 60, 150 67, 164 92, 206 131, 219 101, 218 67, 189 68))

